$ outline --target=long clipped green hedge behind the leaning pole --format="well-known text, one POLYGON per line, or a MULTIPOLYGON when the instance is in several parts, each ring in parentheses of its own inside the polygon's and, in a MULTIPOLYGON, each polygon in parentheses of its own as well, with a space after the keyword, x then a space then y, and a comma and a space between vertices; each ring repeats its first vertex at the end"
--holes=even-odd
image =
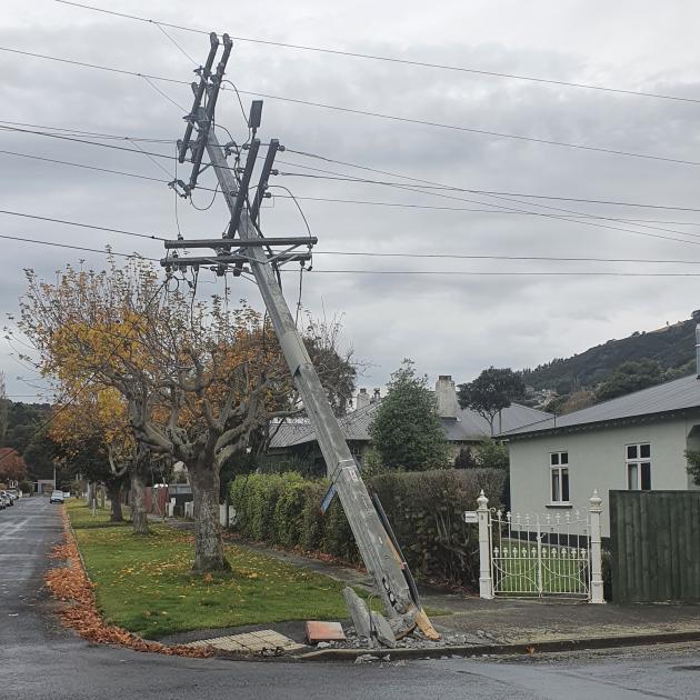
MULTIPOLYGON (((441 469, 390 472, 369 478, 387 512, 411 571, 421 580, 450 580, 476 587, 479 578, 478 532, 462 521, 474 510, 481 489, 497 506, 506 472, 500 469, 441 469)), ((326 514, 320 504, 327 481, 299 473, 249 474, 231 484, 236 529, 246 538, 284 548, 319 551, 360 561, 340 500, 326 514)))

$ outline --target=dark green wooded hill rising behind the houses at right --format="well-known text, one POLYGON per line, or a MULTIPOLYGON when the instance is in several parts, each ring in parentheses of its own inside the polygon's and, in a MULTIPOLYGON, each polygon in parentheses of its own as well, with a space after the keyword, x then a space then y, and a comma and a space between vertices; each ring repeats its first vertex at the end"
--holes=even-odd
POLYGON ((534 369, 522 370, 527 386, 553 389, 559 393, 596 387, 628 360, 654 360, 662 369, 690 373, 694 367, 696 324, 700 310, 690 319, 653 331, 634 332, 629 338, 609 340, 571 358, 554 359, 534 369))

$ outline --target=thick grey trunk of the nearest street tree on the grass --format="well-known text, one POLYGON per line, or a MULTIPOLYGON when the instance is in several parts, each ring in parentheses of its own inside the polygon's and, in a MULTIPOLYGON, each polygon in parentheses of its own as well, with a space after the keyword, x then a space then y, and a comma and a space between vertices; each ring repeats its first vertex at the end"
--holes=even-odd
MULTIPOLYGON (((190 466, 188 464, 188 469, 190 466)), ((194 498, 194 564, 192 571, 230 571, 223 556, 223 539, 219 527, 219 471, 213 459, 198 460, 190 469, 194 498)))

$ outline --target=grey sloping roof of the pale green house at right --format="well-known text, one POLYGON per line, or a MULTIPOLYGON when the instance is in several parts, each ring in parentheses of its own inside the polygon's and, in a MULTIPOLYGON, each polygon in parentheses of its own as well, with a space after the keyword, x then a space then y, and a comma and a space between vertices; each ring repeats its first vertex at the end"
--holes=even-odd
POLYGON ((501 437, 537 434, 581 426, 602 426, 611 421, 670 413, 700 407, 700 380, 694 374, 603 401, 556 419, 550 418, 520 428, 503 430, 501 437))

